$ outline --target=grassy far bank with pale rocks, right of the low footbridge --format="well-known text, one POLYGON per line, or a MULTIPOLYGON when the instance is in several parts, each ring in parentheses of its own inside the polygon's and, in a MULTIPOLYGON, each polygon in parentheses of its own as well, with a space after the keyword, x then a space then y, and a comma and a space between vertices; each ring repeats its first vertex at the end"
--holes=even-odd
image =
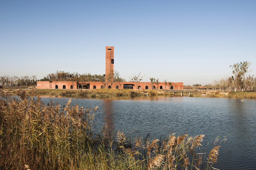
POLYGON ((256 92, 204 91, 191 93, 190 97, 225 97, 225 98, 256 98, 256 92))

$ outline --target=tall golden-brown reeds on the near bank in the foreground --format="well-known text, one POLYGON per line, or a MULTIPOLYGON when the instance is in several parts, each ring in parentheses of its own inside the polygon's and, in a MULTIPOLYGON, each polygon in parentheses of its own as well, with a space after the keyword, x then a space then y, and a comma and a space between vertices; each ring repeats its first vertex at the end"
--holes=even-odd
POLYGON ((213 169, 219 143, 202 147, 204 135, 130 138, 106 127, 94 131, 95 108, 69 100, 62 108, 40 98, 0 98, 1 169, 213 169), (203 168, 202 168, 203 167, 203 168))

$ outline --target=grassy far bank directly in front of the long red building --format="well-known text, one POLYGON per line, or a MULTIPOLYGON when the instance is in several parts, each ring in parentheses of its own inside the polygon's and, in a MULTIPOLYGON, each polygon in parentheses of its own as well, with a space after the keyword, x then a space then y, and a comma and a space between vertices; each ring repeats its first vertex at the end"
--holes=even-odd
POLYGON ((132 90, 132 89, 36 89, 37 95, 52 96, 84 96, 91 98, 111 98, 119 96, 156 96, 173 95, 172 93, 158 92, 157 90, 132 90))

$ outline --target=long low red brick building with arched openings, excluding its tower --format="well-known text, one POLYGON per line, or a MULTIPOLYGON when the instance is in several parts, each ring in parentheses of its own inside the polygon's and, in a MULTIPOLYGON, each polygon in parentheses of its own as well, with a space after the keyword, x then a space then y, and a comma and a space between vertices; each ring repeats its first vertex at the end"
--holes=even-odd
MULTIPOLYGON (((114 84, 104 84, 102 82, 72 82, 72 81, 38 81, 37 82, 38 89, 101 89, 101 88, 115 88, 115 89, 152 89, 151 82, 115 82, 114 84)), ((183 83, 172 83, 169 86, 169 83, 165 84, 164 82, 160 82, 158 86, 156 83, 153 85, 154 89, 174 89, 174 90, 182 90, 183 83)))

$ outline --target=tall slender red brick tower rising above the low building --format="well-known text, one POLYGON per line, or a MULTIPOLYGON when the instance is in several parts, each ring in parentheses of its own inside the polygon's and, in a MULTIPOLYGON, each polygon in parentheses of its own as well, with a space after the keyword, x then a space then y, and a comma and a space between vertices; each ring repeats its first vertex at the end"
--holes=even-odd
POLYGON ((106 78, 111 72, 114 74, 114 47, 106 46, 106 78))

